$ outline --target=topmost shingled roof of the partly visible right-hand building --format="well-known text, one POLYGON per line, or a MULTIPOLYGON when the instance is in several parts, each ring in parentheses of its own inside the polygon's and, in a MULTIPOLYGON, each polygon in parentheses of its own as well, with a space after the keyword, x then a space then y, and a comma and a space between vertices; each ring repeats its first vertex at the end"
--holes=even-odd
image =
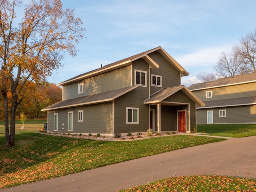
POLYGON ((235 84, 245 84, 250 82, 256 82, 256 72, 236 75, 232 77, 219 78, 215 81, 210 82, 197 83, 189 86, 188 89, 194 91, 208 88, 231 86, 235 84))

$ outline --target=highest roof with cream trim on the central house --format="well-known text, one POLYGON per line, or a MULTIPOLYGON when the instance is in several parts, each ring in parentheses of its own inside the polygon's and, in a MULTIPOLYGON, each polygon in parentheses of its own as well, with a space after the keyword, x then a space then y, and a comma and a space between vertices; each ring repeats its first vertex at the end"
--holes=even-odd
POLYGON ((96 76, 96 75, 103 74, 103 73, 106 73, 106 72, 109 72, 109 71, 112 71, 112 70, 115 70, 118 68, 122 68, 122 67, 130 65, 131 62, 138 60, 139 58, 144 59, 148 64, 150 64, 150 66, 152 68, 158 68, 159 65, 148 56, 148 54, 150 54, 154 51, 159 52, 168 62, 170 62, 170 64, 172 64, 181 73, 182 76, 189 75, 189 73, 180 64, 178 64, 178 62, 176 62, 176 60, 174 60, 174 58, 172 58, 162 47, 159 46, 157 48, 142 52, 140 54, 136 54, 136 55, 128 57, 126 59, 122 59, 120 61, 103 66, 101 68, 92 70, 90 72, 80 74, 80 75, 75 76, 71 79, 68 79, 64 82, 61 82, 57 85, 63 86, 63 85, 66 85, 66 84, 69 84, 72 82, 80 81, 80 80, 83 80, 86 78, 90 78, 92 76, 96 76))

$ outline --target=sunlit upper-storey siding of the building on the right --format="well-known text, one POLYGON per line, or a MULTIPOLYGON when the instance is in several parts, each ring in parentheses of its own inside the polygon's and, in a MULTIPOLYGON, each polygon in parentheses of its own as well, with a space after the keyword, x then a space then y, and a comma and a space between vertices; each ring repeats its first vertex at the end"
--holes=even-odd
POLYGON ((204 90, 195 90, 192 92, 202 101, 249 97, 256 95, 256 82, 204 90), (206 98, 207 91, 212 91, 212 98, 206 98))

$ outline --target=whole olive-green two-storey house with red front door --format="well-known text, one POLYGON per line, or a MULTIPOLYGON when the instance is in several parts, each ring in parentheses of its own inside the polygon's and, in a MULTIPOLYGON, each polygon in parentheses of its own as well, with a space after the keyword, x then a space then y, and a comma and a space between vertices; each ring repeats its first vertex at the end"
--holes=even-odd
POLYGON ((62 101, 48 106, 48 131, 190 132, 204 103, 180 85, 189 75, 162 47, 81 74, 58 85, 62 101))

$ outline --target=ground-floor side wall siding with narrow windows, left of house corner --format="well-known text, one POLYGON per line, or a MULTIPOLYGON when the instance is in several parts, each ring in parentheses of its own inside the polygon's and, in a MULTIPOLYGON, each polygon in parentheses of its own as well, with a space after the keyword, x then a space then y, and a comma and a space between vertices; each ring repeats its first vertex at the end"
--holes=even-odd
POLYGON ((54 114, 58 113, 58 132, 112 134, 113 102, 48 112, 48 131, 53 130, 54 114), (84 110, 83 122, 78 122, 78 110, 84 110), (73 131, 68 131, 68 112, 73 112, 73 131), (64 124, 64 129, 62 129, 64 124))

